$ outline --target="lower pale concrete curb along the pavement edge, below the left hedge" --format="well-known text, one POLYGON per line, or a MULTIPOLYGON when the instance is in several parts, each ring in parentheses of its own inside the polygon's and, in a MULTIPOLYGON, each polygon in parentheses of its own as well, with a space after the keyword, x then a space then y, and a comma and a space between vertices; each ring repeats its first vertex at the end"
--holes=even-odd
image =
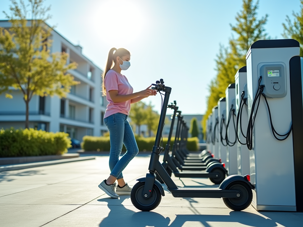
POLYGON ((26 164, 18 164, 18 165, 3 165, 0 166, 0 172, 18 170, 18 169, 28 169, 28 168, 39 167, 39 166, 50 166, 50 165, 56 165, 61 163, 78 162, 78 161, 85 161, 92 159, 95 159, 95 156, 69 158, 69 159, 46 161, 46 162, 26 163, 26 164))

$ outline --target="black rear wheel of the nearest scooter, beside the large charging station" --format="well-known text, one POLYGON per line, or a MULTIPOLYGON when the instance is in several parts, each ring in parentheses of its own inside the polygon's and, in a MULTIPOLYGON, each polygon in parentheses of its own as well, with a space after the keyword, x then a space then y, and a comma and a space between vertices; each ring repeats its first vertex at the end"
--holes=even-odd
POLYGON ((242 181, 232 182, 227 186, 226 189, 239 190, 241 192, 241 196, 239 198, 223 198, 223 202, 229 209, 241 211, 248 208, 248 206, 251 204, 252 190, 247 183, 242 181))

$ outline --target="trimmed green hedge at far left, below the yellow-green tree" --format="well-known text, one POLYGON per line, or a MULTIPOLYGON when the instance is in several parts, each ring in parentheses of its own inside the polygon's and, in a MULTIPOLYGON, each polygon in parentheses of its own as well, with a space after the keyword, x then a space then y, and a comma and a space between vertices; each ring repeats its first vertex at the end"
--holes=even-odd
POLYGON ((0 129, 0 157, 60 155, 71 147, 68 134, 35 129, 0 129))

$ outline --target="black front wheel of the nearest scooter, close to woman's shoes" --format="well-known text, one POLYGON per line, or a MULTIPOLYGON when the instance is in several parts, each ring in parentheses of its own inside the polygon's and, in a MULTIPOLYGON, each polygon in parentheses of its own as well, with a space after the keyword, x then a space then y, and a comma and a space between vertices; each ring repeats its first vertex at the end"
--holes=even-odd
POLYGON ((154 184, 151 196, 148 199, 143 197, 143 189, 145 182, 138 182, 134 185, 131 192, 131 201, 135 208, 142 211, 151 211, 155 209, 161 202, 161 192, 154 184))

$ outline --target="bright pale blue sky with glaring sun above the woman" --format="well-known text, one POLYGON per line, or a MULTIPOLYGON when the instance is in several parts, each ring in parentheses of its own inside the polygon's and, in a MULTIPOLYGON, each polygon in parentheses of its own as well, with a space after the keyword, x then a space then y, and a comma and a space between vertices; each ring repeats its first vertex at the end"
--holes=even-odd
MULTIPOLYGON (((0 1, 0 19, 5 19, 2 11, 8 12, 9 5, 8 0, 0 1)), ((45 5, 51 5, 48 24, 80 44, 98 67, 105 67, 110 48, 124 47, 132 57, 131 67, 122 72, 134 91, 163 78, 172 87, 170 100, 177 100, 183 113, 203 114, 219 44, 228 44, 229 24, 235 24, 242 1, 46 0, 45 5)), ((262 0, 258 18, 268 14, 266 32, 282 38, 286 15, 299 10, 299 0, 262 0)), ((160 111, 160 95, 144 101, 160 111)))

